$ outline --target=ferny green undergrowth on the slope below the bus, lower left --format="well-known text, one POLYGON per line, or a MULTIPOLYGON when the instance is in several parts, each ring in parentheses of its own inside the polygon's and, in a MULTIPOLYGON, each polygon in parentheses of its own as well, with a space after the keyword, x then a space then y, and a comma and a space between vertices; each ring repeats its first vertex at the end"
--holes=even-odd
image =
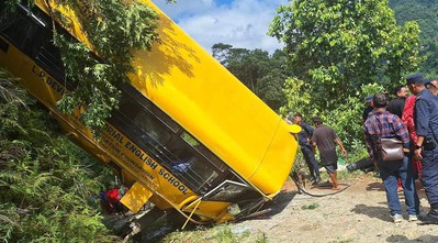
POLYGON ((119 241, 89 205, 104 181, 97 162, 8 78, 0 90, 0 241, 119 241))

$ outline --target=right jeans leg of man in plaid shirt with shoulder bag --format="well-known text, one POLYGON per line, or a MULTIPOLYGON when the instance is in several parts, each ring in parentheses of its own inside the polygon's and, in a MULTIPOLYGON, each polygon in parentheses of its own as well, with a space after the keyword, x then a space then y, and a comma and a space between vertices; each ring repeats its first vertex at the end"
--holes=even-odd
POLYGON ((419 205, 417 190, 414 183, 414 168, 409 157, 405 156, 398 169, 398 176, 403 186, 403 194, 405 196, 406 211, 409 216, 419 214, 419 205))

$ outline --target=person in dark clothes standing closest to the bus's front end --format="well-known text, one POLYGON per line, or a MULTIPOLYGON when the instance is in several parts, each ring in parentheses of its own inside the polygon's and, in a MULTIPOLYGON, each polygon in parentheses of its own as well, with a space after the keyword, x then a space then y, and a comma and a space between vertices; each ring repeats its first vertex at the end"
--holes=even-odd
POLYGON ((312 144, 310 143, 314 129, 303 122, 303 115, 301 113, 295 113, 293 117, 292 114, 289 114, 288 119, 293 120, 295 124, 301 126, 301 132, 299 133, 299 144, 312 177, 312 185, 317 185, 321 181, 319 165, 316 162, 315 154, 312 150, 312 144))

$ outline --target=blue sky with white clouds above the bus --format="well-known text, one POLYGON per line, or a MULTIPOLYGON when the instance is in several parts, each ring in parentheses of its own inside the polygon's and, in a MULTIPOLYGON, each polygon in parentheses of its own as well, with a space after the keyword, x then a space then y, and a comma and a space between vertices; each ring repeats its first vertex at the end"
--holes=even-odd
POLYGON ((151 0, 207 52, 216 43, 273 53, 283 44, 266 33, 288 0, 151 0))

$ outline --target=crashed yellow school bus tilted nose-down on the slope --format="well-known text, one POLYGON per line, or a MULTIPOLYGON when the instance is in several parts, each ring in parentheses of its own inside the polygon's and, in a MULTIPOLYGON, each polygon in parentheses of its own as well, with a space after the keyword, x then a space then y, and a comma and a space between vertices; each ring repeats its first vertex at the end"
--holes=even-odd
MULTIPOLYGON (((135 73, 120 87, 120 109, 100 140, 78 115, 56 107, 75 84, 64 77, 46 1, 35 1, 32 10, 20 4, 1 19, 0 65, 21 78, 77 144, 130 186, 122 202, 132 211, 150 201, 196 223, 256 213, 288 178, 296 140, 278 114, 177 24, 151 2, 142 2, 158 13, 161 42, 150 52, 133 53, 135 73)), ((64 34, 87 43, 75 24, 64 34)))

